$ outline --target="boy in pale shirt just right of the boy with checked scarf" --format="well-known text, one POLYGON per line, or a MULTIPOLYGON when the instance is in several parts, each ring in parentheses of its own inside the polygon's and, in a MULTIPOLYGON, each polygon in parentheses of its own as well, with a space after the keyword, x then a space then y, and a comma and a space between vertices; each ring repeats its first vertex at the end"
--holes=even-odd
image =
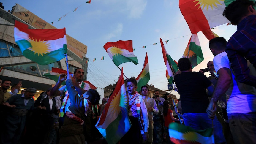
POLYGON ((148 140, 147 144, 153 143, 153 114, 158 113, 158 108, 156 105, 156 101, 150 97, 148 97, 148 87, 147 86, 142 86, 141 87, 141 93, 143 95, 143 100, 146 104, 146 107, 148 109, 148 121, 149 121, 149 126, 148 126, 148 140))

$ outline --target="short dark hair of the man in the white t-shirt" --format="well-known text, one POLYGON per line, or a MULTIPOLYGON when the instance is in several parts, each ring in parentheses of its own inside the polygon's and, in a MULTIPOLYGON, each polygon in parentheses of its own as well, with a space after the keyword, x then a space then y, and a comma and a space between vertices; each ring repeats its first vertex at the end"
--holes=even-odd
POLYGON ((214 50, 225 50, 227 41, 224 37, 215 37, 209 41, 209 48, 214 50))

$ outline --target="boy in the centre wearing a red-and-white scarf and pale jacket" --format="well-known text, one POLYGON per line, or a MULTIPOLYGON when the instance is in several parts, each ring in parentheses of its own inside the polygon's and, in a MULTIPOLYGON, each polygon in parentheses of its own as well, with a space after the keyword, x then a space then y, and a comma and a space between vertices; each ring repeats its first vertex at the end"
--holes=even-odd
POLYGON ((142 142, 142 140, 140 139, 141 133, 144 133, 142 135, 142 138, 145 141, 148 138, 148 112, 142 96, 139 95, 137 91, 135 91, 137 88, 136 79, 134 78, 128 79, 126 88, 128 91, 127 97, 129 102, 128 115, 132 123, 132 127, 124 135, 124 137, 122 137, 121 143, 137 144, 142 142))

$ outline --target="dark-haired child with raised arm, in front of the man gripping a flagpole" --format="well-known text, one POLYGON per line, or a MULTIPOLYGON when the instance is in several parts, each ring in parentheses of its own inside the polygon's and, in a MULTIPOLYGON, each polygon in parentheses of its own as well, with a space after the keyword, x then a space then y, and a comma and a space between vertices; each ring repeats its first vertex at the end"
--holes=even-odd
POLYGON ((95 105, 99 102, 100 95, 96 90, 90 89, 82 96, 78 96, 74 83, 76 83, 75 77, 67 75, 66 85, 71 105, 66 112, 64 124, 59 130, 59 143, 85 144, 82 125, 87 113, 90 111, 91 105, 95 105))

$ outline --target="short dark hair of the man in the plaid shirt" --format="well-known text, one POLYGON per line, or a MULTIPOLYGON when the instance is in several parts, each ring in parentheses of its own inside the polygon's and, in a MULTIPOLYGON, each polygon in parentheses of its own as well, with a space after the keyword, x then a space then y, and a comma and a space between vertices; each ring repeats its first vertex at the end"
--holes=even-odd
POLYGON ((255 6, 255 3, 250 0, 233 1, 225 7, 222 15, 225 16, 232 24, 238 25, 241 18, 248 14, 248 7, 250 5, 255 6))

